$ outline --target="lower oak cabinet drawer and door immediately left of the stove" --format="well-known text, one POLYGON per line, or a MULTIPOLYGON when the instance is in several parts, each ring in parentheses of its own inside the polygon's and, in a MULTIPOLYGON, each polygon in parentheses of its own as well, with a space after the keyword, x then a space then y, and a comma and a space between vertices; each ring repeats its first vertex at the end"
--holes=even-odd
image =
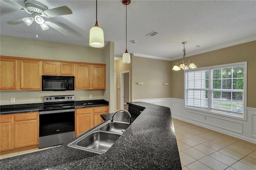
POLYGON ((14 115, 14 148, 38 144, 38 112, 14 115))

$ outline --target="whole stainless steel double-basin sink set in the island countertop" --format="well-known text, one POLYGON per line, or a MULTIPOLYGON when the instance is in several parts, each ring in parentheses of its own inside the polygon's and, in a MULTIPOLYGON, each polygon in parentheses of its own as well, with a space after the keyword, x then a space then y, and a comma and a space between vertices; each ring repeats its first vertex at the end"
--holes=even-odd
POLYGON ((103 154, 129 126, 130 124, 127 122, 107 121, 73 142, 70 142, 68 146, 96 154, 103 154))

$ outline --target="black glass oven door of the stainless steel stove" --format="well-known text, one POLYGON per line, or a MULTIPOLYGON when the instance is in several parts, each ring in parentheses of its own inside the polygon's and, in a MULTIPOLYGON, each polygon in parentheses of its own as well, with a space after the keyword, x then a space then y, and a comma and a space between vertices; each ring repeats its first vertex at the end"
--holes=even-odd
POLYGON ((75 131, 74 109, 39 113, 39 137, 72 131, 75 131))

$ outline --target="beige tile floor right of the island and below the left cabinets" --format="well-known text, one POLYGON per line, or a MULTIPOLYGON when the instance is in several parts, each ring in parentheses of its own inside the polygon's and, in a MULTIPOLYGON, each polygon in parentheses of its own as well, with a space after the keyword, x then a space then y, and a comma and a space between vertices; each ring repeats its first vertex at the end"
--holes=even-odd
MULTIPOLYGON (((182 170, 256 170, 256 144, 178 119, 172 120, 182 170)), ((0 159, 48 148, 5 154, 0 159)))

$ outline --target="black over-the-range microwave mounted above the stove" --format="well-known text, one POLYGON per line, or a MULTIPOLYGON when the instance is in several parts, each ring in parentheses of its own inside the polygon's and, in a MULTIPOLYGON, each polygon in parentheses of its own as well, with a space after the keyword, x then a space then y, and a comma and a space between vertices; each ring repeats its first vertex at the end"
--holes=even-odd
POLYGON ((75 90, 74 76, 42 75, 42 91, 75 90))

